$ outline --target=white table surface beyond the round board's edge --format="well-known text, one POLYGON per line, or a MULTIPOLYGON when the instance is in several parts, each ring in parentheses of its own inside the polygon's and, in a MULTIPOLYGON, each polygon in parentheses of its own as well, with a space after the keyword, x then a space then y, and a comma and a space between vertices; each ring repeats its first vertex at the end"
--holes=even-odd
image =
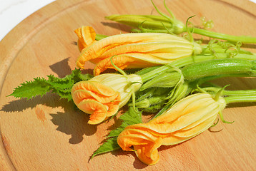
MULTIPOLYGON (((0 41, 12 28, 19 24, 19 22, 53 1, 54 0, 0 0, 0 41)), ((250 1, 256 3, 256 0, 250 1)))

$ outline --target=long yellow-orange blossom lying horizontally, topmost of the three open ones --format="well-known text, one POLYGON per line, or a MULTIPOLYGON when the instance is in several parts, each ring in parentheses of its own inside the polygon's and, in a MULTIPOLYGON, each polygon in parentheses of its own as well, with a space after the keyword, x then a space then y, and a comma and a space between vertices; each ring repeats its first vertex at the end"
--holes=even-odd
POLYGON ((107 68, 114 68, 112 62, 121 69, 145 68, 167 64, 202 51, 197 43, 169 33, 122 33, 95 41, 92 27, 82 26, 75 32, 81 51, 77 66, 84 68, 87 61, 95 63, 95 76, 107 68))

